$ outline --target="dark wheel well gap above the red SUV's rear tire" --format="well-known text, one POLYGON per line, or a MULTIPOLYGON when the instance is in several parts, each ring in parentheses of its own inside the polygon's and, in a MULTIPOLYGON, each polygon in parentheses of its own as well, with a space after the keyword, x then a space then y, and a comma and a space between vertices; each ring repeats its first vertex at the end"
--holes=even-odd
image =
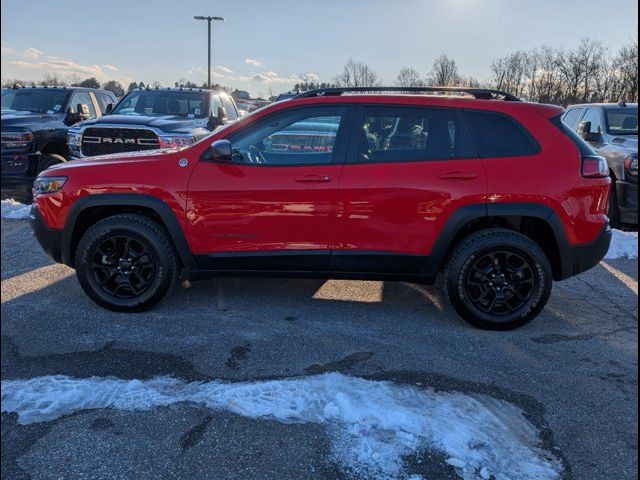
POLYGON ((454 237, 447 251, 446 258, 449 258, 454 248, 463 238, 485 228, 506 228, 529 237, 542 248, 542 251, 549 259, 553 271, 553 278, 561 278, 562 262, 555 234, 551 225, 538 217, 510 215, 482 217, 471 220, 465 224, 454 237))

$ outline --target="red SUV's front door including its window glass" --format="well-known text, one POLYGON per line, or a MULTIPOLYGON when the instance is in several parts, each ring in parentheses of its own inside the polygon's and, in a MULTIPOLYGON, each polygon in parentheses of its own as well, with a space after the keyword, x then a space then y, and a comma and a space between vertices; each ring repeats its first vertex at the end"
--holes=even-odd
POLYGON ((328 268, 347 109, 276 112, 228 137, 231 163, 199 162, 187 221, 201 268, 328 268))

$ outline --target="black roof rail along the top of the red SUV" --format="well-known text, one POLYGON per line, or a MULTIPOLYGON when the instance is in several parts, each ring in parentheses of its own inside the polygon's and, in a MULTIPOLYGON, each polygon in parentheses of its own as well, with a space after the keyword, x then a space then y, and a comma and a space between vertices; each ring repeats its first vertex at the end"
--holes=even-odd
POLYGON ((463 93, 471 95, 478 100, 504 100, 508 102, 521 102, 522 100, 507 92, 490 88, 472 87, 332 87, 319 88, 302 92, 295 98, 310 98, 323 96, 340 96, 345 93, 463 93))

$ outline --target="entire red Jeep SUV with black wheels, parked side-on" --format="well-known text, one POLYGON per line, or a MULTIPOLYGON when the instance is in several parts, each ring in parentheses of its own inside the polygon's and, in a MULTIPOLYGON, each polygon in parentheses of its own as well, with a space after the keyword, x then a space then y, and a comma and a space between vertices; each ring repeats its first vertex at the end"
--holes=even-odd
POLYGON ((315 90, 189 147, 52 167, 31 220, 111 310, 151 307, 181 272, 427 284, 443 272, 461 317, 515 328, 611 241, 607 164, 562 113, 486 89, 315 90))

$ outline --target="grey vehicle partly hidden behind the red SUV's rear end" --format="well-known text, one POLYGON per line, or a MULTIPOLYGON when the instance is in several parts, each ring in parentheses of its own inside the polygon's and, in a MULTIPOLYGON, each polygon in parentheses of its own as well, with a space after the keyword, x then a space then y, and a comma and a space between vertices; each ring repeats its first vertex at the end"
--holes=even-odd
POLYGON ((607 159, 611 224, 638 225, 638 104, 573 105, 562 119, 607 159))

